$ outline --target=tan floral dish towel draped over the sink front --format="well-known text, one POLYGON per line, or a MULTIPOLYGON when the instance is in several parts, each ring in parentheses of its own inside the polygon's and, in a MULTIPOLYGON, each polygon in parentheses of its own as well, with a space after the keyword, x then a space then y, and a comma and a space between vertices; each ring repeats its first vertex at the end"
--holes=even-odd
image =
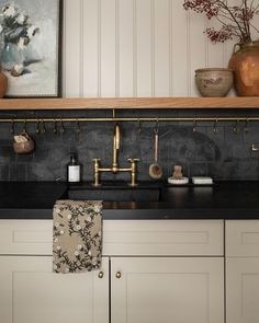
POLYGON ((53 209, 53 272, 98 269, 102 256, 102 201, 57 200, 53 209))

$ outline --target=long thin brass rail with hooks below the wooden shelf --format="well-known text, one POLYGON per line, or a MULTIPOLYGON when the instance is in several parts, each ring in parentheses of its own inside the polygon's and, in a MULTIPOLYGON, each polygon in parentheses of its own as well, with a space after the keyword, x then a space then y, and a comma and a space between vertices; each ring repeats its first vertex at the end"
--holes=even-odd
POLYGON ((124 122, 259 122, 259 117, 104 117, 104 118, 0 118, 0 123, 124 123, 124 122))

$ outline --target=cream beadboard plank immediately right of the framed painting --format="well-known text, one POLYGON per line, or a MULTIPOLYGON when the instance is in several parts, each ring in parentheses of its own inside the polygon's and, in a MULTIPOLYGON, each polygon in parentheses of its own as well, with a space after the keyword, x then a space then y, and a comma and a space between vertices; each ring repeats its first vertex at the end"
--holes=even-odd
POLYGON ((64 96, 80 95, 80 25, 81 0, 66 0, 64 5, 65 20, 65 82, 64 96))

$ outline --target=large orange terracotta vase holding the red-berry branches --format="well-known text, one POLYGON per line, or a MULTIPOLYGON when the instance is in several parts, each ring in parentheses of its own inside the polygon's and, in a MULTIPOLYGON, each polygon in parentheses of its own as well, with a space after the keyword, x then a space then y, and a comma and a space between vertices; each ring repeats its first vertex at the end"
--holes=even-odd
POLYGON ((259 96, 259 42, 236 44, 228 67, 238 96, 259 96))

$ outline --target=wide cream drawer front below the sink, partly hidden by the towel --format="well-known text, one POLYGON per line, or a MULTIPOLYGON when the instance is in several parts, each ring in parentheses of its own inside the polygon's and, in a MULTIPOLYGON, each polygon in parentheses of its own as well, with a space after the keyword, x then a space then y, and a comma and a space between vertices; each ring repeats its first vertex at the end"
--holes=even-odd
MULTIPOLYGON (((1 220, 0 254, 52 255, 52 220, 1 220)), ((223 255, 223 221, 104 220, 103 255, 223 255)))

